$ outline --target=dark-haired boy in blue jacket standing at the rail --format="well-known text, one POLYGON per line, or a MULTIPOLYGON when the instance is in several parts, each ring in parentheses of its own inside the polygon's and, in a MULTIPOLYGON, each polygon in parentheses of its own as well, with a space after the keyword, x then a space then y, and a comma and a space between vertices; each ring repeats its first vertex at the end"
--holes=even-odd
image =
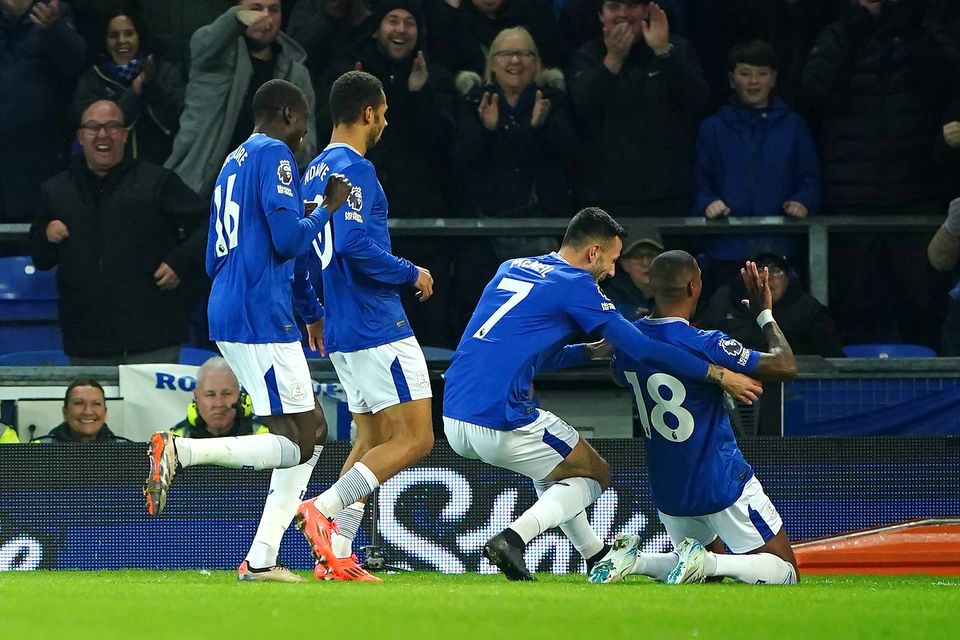
MULTIPOLYGON (((700 125, 693 215, 805 218, 820 208, 820 165, 806 123, 773 95, 776 53, 763 40, 735 45, 728 56, 730 102, 700 125)), ((709 281, 739 273, 759 249, 795 256, 786 236, 725 235, 711 240, 709 281)))

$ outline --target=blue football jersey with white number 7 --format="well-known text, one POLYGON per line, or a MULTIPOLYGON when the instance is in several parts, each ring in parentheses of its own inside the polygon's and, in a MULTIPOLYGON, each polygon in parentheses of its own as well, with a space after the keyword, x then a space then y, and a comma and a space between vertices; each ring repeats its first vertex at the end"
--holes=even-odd
POLYGON ((443 415, 497 430, 530 424, 537 369, 556 366, 578 334, 620 317, 593 276, 556 253, 504 262, 450 360, 443 415))

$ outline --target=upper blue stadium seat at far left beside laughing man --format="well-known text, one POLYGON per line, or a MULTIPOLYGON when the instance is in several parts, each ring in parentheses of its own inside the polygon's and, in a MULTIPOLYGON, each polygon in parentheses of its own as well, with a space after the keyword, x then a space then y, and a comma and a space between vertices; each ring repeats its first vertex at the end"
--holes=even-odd
POLYGON ((0 353, 63 349, 57 321, 57 270, 27 256, 0 258, 0 353))

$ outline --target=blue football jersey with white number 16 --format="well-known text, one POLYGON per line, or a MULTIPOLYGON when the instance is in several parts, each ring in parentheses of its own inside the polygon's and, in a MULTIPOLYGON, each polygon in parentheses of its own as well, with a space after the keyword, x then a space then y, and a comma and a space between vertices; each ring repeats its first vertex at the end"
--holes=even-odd
POLYGON ((302 206, 297 162, 283 142, 255 133, 227 156, 214 188, 207 234, 212 340, 246 344, 300 340, 294 291, 305 321, 322 315, 306 279, 306 264, 294 282, 294 261, 280 255, 271 241, 268 219, 300 220, 302 206))

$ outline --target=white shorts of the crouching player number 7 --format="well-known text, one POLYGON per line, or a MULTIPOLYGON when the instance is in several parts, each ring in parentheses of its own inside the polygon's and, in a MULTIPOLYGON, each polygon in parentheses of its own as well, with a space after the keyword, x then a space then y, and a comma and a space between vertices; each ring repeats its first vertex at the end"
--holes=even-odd
POLYGON ((498 431, 443 417, 450 447, 464 458, 483 460, 532 480, 543 480, 580 442, 580 434, 549 411, 512 431, 498 431))

